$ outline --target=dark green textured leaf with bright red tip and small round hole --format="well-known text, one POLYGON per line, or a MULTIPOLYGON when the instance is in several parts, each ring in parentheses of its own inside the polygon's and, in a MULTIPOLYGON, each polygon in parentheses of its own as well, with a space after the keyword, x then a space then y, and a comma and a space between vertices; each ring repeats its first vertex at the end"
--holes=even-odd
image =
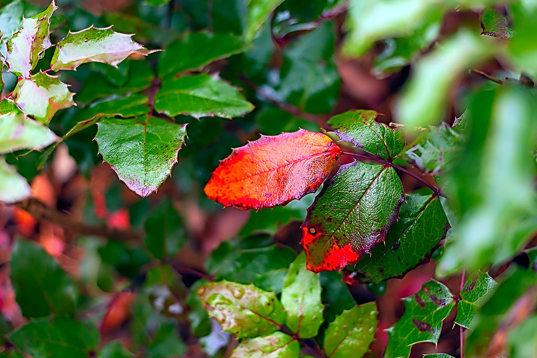
POLYGON ((388 165, 353 162, 325 183, 302 224, 308 269, 341 270, 384 241, 404 201, 388 165))

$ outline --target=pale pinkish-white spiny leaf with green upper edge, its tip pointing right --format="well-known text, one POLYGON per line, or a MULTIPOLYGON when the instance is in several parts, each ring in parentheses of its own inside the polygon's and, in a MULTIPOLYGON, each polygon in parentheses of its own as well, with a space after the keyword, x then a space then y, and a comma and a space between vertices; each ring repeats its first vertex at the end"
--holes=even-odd
POLYGON ((53 71, 74 70, 86 62, 101 62, 113 66, 132 54, 147 56, 159 50, 148 50, 135 42, 132 35, 115 32, 112 28, 89 27, 69 32, 54 51, 50 62, 53 71))

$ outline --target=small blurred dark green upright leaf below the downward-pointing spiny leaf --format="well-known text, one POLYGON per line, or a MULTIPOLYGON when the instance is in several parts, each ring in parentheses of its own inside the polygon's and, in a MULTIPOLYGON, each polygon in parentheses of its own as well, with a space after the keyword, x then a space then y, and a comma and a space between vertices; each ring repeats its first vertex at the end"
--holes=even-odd
POLYGON ((146 220, 146 243, 149 252, 158 260, 172 257, 185 240, 183 220, 169 199, 165 199, 146 220))

